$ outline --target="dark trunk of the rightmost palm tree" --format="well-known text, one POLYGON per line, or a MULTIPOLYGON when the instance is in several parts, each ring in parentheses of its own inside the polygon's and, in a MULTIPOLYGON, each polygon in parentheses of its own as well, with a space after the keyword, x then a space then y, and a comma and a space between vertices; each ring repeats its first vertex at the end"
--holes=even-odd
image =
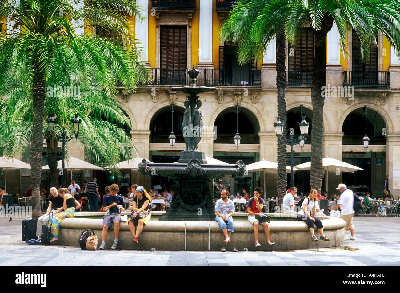
POLYGON ((315 52, 312 63, 311 103, 312 103, 312 131, 311 131, 311 178, 312 189, 321 191, 324 156, 324 100, 322 87, 326 86, 326 37, 332 28, 332 16, 325 16, 321 30, 314 30, 315 52))

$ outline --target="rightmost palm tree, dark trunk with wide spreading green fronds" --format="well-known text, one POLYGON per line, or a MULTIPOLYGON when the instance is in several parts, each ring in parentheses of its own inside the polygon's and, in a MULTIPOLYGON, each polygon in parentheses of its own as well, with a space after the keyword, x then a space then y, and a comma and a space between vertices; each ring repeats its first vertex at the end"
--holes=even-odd
POLYGON ((317 190, 321 189, 323 174, 324 97, 321 93, 322 87, 326 86, 326 38, 333 22, 340 35, 340 51, 345 57, 348 57, 349 25, 360 41, 363 60, 368 59, 370 44, 376 44, 378 32, 388 38, 392 46, 400 48, 400 4, 392 0, 243 0, 235 5, 221 29, 222 40, 239 43, 240 63, 261 57, 282 26, 292 46, 296 45, 305 26, 314 30, 311 188, 317 190))

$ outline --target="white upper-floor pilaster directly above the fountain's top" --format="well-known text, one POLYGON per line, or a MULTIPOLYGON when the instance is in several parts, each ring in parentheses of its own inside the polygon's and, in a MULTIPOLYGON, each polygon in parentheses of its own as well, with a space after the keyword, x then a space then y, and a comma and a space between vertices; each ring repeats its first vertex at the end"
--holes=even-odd
POLYGON ((199 48, 197 69, 214 69, 212 64, 212 0, 200 1, 199 48))

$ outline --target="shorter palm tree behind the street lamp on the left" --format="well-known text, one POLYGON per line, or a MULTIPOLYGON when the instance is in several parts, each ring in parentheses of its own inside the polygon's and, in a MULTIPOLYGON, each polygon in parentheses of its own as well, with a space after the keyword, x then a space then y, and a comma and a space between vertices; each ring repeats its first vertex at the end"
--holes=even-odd
MULTIPOLYGON (((32 136, 31 100, 20 94, 17 85, 12 88, 3 87, 2 90, 0 96, 2 93, 11 95, 6 100, 0 100, 0 145, 4 146, 0 154, 24 156, 29 152, 32 136)), ((47 144, 50 186, 58 186, 57 141, 54 137, 50 138, 46 122, 50 113, 54 113, 58 119, 55 133, 59 137, 62 127, 66 128, 68 136, 73 133, 69 122, 74 113, 78 113, 82 120, 78 141, 85 147, 89 161, 93 164, 113 165, 121 160, 128 160, 132 153, 137 153, 132 139, 122 128, 130 129, 130 119, 114 99, 109 99, 104 92, 96 89, 80 92, 79 100, 76 99, 64 91, 46 95, 43 136, 47 144)), ((66 149, 68 150, 68 144, 66 149)))

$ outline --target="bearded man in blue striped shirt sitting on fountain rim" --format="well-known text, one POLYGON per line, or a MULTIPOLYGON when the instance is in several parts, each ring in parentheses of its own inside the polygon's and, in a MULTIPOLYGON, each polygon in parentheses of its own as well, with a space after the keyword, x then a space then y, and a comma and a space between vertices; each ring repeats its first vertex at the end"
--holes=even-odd
MULTIPOLYGON (((235 211, 235 206, 232 200, 228 199, 229 192, 226 189, 221 190, 221 198, 215 203, 215 220, 220 225, 222 234, 224 234, 224 243, 230 242, 230 236, 233 232, 233 219, 232 212, 235 211)), ((221 251, 225 251, 225 247, 222 247, 221 251)), ((233 247, 233 251, 238 251, 233 247)))

